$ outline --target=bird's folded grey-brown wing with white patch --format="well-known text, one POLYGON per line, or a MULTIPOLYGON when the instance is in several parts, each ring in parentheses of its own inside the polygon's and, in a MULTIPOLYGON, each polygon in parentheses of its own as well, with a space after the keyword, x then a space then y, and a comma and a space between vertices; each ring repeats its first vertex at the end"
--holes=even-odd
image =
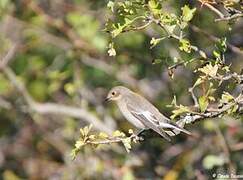
POLYGON ((171 141, 170 137, 159 128, 159 122, 153 117, 153 114, 151 114, 149 111, 135 109, 135 107, 129 103, 127 104, 127 109, 135 118, 139 119, 146 127, 154 130, 162 137, 164 137, 167 141, 171 141))

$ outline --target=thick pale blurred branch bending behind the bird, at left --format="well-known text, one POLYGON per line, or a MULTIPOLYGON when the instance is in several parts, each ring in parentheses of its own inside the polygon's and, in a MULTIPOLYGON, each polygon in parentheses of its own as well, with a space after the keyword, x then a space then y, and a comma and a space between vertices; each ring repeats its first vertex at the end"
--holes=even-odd
POLYGON ((105 131, 111 133, 112 129, 105 125, 100 119, 91 114, 85 109, 80 107, 71 107, 66 105, 60 105, 56 103, 38 103, 29 95, 25 86, 17 79, 15 73, 9 68, 6 67, 3 69, 4 74, 7 76, 12 85, 23 95, 26 103, 29 108, 39 114, 57 114, 57 115, 66 115, 74 118, 80 118, 91 123, 97 130, 105 131))

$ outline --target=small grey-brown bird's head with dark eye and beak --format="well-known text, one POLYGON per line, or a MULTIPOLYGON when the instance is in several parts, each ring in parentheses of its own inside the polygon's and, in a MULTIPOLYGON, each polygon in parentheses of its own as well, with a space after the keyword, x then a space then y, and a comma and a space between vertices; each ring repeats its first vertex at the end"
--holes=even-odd
POLYGON ((117 101, 120 100, 127 92, 130 90, 123 86, 113 87, 108 95, 106 96, 105 101, 117 101))

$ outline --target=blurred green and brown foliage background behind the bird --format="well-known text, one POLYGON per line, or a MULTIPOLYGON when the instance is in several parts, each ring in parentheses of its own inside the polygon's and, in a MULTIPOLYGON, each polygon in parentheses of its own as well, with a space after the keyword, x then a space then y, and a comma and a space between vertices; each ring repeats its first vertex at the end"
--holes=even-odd
MULTIPOLYGON (((166 1, 166 9, 179 13, 188 3, 197 8, 188 39, 210 54, 217 38, 226 37, 232 45, 226 62, 240 72, 242 19, 215 23, 215 13, 199 1, 166 1)), ((177 44, 169 39, 151 50, 160 31, 149 27, 120 35, 117 56, 109 57, 103 29, 110 16, 103 0, 0 0, 1 179, 210 179, 229 169, 243 175, 241 117, 186 126, 199 139, 178 135, 168 143, 149 132, 130 153, 120 144, 85 147, 71 160, 80 128, 133 128, 114 104, 103 103, 115 85, 139 92, 167 116, 174 95, 179 104, 193 104, 192 68, 178 67, 174 79, 168 75, 171 59, 185 57, 177 44), (152 63, 156 58, 163 63, 152 63)), ((216 94, 240 90, 224 85, 216 94)))

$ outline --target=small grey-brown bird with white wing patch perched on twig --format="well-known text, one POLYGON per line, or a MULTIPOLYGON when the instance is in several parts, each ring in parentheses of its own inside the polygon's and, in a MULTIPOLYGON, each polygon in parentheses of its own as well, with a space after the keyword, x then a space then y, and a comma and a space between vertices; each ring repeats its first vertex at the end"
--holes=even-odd
POLYGON ((115 101, 125 118, 141 130, 152 129, 168 141, 169 136, 178 132, 191 134, 170 121, 147 99, 126 87, 113 87, 106 97, 106 101, 110 100, 115 101))

